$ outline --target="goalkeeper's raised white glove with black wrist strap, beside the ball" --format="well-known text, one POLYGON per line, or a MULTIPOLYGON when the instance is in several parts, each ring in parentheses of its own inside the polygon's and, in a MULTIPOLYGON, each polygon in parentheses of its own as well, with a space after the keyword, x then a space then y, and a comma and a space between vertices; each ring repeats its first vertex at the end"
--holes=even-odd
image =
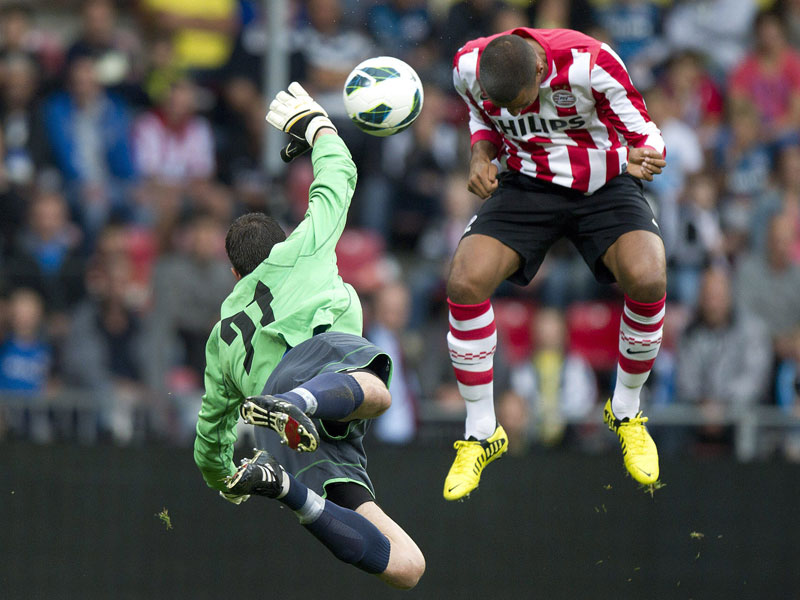
POLYGON ((328 113, 308 95, 296 81, 289 84, 286 92, 278 92, 269 105, 267 121, 270 125, 292 136, 289 145, 281 150, 284 162, 290 162, 314 145, 314 139, 322 129, 336 131, 328 113))

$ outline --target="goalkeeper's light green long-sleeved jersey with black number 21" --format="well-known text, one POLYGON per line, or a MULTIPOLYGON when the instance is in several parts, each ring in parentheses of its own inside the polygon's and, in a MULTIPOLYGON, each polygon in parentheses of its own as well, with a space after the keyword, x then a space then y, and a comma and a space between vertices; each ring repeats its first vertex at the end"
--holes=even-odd
POLYGON ((361 335, 361 304, 339 276, 335 253, 356 167, 336 135, 320 137, 311 158, 314 182, 305 218, 236 284, 206 344, 194 459, 206 483, 218 490, 225 490, 223 479, 235 471, 239 405, 262 392, 284 353, 320 331, 361 335))

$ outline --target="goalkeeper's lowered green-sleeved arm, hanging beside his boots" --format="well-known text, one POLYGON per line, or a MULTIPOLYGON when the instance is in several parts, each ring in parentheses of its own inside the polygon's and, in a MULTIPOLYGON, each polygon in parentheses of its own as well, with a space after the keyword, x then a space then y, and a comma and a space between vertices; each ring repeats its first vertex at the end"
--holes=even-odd
POLYGON ((194 461, 209 487, 227 491, 224 479, 236 471, 233 445, 240 402, 227 393, 219 364, 219 323, 206 344, 205 391, 197 417, 194 461))

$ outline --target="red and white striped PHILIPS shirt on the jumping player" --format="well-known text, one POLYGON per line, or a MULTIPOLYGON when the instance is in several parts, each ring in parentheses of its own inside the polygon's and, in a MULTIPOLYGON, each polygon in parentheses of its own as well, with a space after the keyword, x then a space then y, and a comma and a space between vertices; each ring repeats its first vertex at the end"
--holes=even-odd
POLYGON ((569 29, 512 29, 473 40, 453 61, 453 83, 470 108, 472 143, 488 140, 507 168, 592 193, 625 171, 628 146, 666 153, 619 56, 569 29), (478 84, 478 61, 500 35, 533 38, 547 55, 539 97, 518 116, 492 104, 478 84))

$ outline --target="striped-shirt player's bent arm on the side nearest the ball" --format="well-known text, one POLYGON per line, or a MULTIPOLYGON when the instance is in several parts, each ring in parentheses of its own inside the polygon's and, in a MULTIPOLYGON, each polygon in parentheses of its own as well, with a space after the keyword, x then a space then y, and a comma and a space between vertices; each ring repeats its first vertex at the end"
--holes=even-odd
POLYGON ((469 161, 467 188, 485 200, 497 189, 497 166, 492 161, 500 153, 503 138, 469 92, 466 80, 458 67, 458 57, 453 68, 453 87, 469 108, 472 155, 469 161))

